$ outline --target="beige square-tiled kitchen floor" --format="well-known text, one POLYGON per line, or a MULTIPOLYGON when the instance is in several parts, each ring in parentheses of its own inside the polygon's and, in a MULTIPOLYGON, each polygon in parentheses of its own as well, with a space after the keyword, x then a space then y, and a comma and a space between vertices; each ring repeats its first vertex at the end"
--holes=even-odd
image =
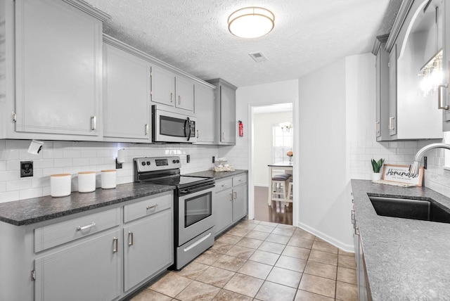
POLYGON ((132 300, 358 299, 354 254, 293 226, 243 220, 132 300))

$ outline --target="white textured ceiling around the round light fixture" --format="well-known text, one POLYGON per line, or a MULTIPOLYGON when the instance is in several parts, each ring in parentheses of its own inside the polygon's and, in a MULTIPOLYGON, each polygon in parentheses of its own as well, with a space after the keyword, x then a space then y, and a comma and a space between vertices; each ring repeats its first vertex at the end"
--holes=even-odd
POLYGON ((103 32, 200 79, 238 87, 297 79, 370 52, 390 31, 400 0, 85 0, 111 15, 103 32), (275 14, 272 32, 241 39, 227 19, 246 6, 275 14), (256 63, 248 53, 268 59, 256 63))

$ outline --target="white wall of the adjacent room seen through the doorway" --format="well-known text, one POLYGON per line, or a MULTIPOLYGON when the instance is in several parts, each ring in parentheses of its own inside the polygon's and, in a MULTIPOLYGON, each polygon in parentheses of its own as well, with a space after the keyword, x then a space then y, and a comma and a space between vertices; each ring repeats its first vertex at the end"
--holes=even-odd
MULTIPOLYGON (((269 167, 267 165, 273 163, 273 134, 272 125, 281 122, 293 120, 292 112, 277 112, 255 114, 253 119, 255 165, 253 173, 255 174, 255 186, 269 186, 269 167)), ((288 157, 286 156, 286 160, 288 157)))

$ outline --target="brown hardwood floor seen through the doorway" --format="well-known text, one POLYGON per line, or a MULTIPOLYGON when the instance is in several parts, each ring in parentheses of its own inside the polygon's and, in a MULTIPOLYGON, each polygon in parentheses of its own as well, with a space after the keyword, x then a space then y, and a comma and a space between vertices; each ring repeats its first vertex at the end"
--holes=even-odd
POLYGON ((272 206, 267 205, 268 187, 255 186, 255 219, 278 224, 293 224, 293 204, 289 207, 284 202, 272 200, 272 206))

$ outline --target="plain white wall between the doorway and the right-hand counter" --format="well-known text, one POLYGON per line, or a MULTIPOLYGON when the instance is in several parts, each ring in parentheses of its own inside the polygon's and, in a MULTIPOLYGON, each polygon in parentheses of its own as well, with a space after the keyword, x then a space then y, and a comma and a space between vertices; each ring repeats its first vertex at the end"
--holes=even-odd
POLYGON ((297 133, 301 147, 297 153, 302 163, 295 185, 300 187, 298 224, 344 250, 352 250, 346 71, 343 58, 299 79, 297 133))

